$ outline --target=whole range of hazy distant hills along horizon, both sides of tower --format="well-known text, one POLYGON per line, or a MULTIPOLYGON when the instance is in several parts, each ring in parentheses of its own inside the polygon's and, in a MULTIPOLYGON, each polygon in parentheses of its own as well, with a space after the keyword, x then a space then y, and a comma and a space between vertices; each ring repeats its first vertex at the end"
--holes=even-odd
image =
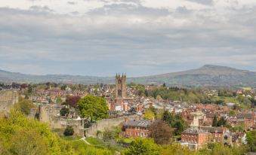
MULTIPOLYGON (((95 77, 68 74, 32 75, 0 70, 0 82, 67 84, 114 84, 114 77, 95 77)), ((188 71, 128 78, 137 84, 168 84, 180 87, 256 87, 256 72, 239 70, 219 65, 204 65, 188 71)))

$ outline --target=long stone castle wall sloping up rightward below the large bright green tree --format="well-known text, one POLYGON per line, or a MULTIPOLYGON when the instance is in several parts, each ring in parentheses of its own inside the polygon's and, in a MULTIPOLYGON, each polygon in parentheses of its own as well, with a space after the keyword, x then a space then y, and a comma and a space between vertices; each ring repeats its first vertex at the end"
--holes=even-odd
POLYGON ((96 137, 97 131, 104 131, 105 129, 109 129, 113 126, 118 126, 120 123, 124 123, 125 120, 138 120, 139 116, 131 115, 124 117, 117 117, 113 119, 103 119, 98 120, 97 123, 94 123, 89 128, 85 129, 85 135, 88 137, 96 137))

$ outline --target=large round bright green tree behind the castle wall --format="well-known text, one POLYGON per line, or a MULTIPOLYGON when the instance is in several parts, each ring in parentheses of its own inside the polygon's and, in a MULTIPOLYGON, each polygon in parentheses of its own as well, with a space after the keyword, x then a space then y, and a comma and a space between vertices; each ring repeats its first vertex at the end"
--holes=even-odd
POLYGON ((82 117, 91 117, 92 120, 100 120, 109 116, 106 100, 101 97, 85 96, 79 100, 77 108, 82 117))

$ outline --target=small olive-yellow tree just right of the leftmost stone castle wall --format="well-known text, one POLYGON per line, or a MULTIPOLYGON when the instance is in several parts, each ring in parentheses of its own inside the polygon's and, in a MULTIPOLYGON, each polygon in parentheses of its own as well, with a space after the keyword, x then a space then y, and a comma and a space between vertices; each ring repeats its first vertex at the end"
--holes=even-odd
POLYGON ((23 114, 29 115, 30 109, 33 108, 34 105, 32 101, 29 99, 23 99, 22 97, 19 98, 19 102, 15 105, 17 110, 21 111, 23 114))

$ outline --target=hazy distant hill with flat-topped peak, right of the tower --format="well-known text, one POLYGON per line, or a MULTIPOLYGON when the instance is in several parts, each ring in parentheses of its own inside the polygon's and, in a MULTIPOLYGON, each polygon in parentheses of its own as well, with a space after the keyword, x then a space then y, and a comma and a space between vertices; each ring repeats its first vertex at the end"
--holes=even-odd
POLYGON ((133 78, 136 83, 171 84, 174 86, 256 87, 256 72, 219 65, 204 65, 188 71, 133 78))

